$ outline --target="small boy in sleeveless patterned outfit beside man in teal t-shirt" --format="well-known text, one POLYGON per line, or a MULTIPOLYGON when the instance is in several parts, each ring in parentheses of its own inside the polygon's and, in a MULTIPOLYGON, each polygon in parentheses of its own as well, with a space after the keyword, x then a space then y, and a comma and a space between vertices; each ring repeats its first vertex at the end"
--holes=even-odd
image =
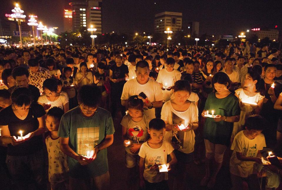
POLYGON ((69 189, 69 166, 67 156, 61 151, 58 129, 64 111, 59 107, 51 108, 46 116, 45 143, 49 160, 49 182, 51 190, 69 189))

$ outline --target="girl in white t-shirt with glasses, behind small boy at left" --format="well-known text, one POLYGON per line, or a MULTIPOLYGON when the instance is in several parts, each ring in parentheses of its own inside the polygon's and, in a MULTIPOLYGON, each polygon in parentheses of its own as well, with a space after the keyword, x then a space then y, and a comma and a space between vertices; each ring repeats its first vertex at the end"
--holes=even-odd
POLYGON ((69 111, 69 100, 66 96, 57 93, 57 81, 55 79, 46 79, 43 82, 44 94, 38 98, 37 103, 48 110, 52 107, 59 107, 66 113, 69 111))

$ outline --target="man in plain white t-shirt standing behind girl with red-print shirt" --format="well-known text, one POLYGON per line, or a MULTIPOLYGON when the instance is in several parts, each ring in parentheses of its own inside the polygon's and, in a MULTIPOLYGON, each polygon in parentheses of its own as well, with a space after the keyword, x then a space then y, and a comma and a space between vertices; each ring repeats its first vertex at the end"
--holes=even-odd
POLYGON ((156 118, 155 108, 163 105, 163 96, 158 82, 149 78, 149 64, 146 61, 139 61, 136 64, 136 78, 127 81, 121 95, 121 104, 127 107, 127 100, 130 96, 146 94, 144 101, 144 113, 150 118, 156 118))

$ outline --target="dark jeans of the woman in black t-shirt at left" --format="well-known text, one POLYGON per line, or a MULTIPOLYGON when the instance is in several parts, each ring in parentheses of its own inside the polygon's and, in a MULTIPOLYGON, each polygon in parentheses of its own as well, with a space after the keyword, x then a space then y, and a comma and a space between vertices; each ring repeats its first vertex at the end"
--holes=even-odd
POLYGON ((7 155, 6 164, 11 176, 13 189, 46 189, 47 178, 44 151, 27 156, 7 155))

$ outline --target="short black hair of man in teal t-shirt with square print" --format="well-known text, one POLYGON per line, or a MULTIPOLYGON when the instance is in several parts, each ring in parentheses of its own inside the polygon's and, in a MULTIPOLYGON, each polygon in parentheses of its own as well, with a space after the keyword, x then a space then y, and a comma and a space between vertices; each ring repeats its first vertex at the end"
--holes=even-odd
POLYGON ((97 107, 101 101, 101 90, 96 85, 84 85, 78 91, 77 101, 89 107, 97 107))

